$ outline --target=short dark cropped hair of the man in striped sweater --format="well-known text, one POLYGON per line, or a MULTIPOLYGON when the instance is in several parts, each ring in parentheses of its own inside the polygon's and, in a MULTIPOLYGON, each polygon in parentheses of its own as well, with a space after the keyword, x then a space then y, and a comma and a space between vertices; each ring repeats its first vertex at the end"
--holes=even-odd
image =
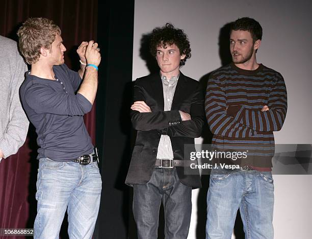
POLYGON ((255 19, 242 17, 231 24, 231 31, 248 31, 252 36, 253 43, 262 39, 262 27, 255 19))

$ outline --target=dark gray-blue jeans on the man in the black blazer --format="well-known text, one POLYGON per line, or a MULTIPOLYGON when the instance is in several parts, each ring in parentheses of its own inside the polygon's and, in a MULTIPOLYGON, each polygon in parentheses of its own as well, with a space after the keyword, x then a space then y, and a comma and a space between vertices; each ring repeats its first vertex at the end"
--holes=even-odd
POLYGON ((166 239, 186 239, 192 212, 192 187, 182 184, 175 168, 155 168, 146 184, 135 184, 133 214, 139 239, 156 239, 163 201, 166 239))

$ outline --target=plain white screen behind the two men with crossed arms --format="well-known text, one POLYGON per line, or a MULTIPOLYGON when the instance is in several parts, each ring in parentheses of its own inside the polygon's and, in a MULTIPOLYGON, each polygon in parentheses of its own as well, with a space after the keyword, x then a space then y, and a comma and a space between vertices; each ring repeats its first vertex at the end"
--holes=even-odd
MULTIPOLYGON (((221 66, 220 29, 239 17, 259 21, 264 34, 257 61, 279 71, 288 90, 288 113, 275 134, 276 144, 312 144, 312 4, 310 1, 187 1, 136 0, 133 80, 149 74, 139 56, 142 34, 171 22, 189 36, 192 58, 181 69, 200 79, 221 66), (288 3, 292 2, 292 3, 288 3)), ((200 143, 201 139, 197 139, 200 143)), ((275 238, 311 238, 312 176, 274 175, 275 238)), ((208 182, 207 182, 208 183, 208 182)), ((193 190, 193 214, 189 239, 195 239, 198 190, 193 190)), ((197 238, 201 239, 201 238, 197 238)))

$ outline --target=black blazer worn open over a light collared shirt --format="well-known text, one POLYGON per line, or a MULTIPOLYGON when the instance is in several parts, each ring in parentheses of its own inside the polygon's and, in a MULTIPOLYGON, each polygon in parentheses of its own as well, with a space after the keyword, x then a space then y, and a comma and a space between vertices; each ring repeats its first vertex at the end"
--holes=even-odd
MULTIPOLYGON (((144 101, 151 113, 131 110, 131 121, 137 130, 136 144, 125 183, 144 184, 150 180, 155 167, 157 150, 162 134, 170 137, 173 157, 184 160, 184 145, 190 144, 195 151, 194 138, 201 135, 205 121, 203 92, 198 81, 180 73, 170 111, 164 111, 163 84, 159 74, 142 77, 134 86, 134 102, 144 101), (189 113, 191 120, 181 121, 179 110, 189 113)), ((188 154, 189 155, 189 154, 188 154)), ((186 156, 186 160, 190 160, 186 156)), ((198 174, 185 174, 184 167, 176 167, 180 182, 200 187, 198 174)))

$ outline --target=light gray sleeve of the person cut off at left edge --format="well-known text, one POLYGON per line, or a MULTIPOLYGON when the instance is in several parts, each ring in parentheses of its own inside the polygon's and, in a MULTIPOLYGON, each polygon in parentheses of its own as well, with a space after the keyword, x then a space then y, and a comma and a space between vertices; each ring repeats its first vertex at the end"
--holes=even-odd
POLYGON ((0 138, 0 149, 5 158, 15 154, 19 147, 24 144, 29 126, 29 121, 19 100, 19 87, 24 80, 24 73, 27 71, 27 65, 17 51, 15 57, 16 65, 12 67, 13 70, 10 79, 10 120, 2 138, 0 138))

